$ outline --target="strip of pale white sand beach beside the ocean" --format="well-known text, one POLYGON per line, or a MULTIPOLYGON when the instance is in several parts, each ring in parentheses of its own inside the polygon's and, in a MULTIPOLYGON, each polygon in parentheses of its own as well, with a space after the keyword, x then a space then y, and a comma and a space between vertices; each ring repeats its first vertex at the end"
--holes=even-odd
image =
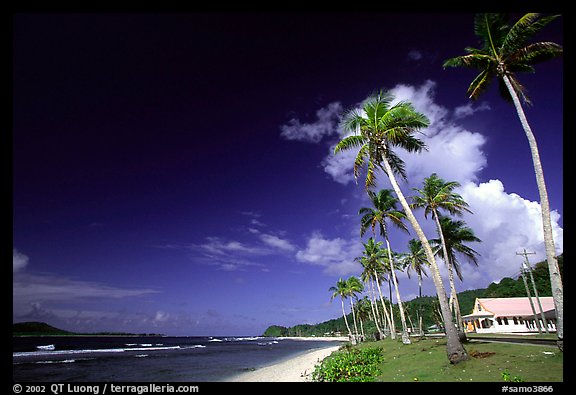
POLYGON ((234 382, 312 381, 314 367, 340 346, 308 351, 294 358, 230 378, 234 382))

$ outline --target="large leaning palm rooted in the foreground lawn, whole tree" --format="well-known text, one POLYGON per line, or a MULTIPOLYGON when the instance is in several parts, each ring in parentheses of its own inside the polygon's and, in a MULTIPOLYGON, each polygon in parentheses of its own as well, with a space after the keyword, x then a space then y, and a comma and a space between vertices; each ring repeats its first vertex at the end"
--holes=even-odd
POLYGON ((366 189, 375 184, 377 169, 384 171, 390 179, 392 188, 400 200, 408 221, 422 242, 426 258, 430 262, 432 279, 446 324, 446 353, 448 360, 455 364, 469 357, 458 338, 432 248, 396 181, 395 174, 406 178, 404 162, 392 151, 392 148, 396 147, 409 152, 420 152, 424 149, 424 142, 416 138, 414 133, 427 127, 430 122, 424 114, 416 112, 412 104, 399 102, 392 105, 393 99, 390 93, 378 91, 364 102, 362 110, 351 110, 345 114, 343 127, 351 135, 344 137, 336 145, 334 152, 338 153, 351 148, 360 149, 354 161, 354 176, 358 178, 360 169, 364 167, 368 159, 366 189))

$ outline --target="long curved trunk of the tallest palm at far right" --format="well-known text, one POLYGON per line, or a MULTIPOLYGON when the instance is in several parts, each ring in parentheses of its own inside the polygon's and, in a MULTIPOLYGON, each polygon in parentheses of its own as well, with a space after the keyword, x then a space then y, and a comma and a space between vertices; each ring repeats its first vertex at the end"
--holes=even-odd
POLYGON ((538 144, 536 137, 532 133, 532 129, 528 124, 522 104, 518 99, 518 95, 514 87, 510 83, 510 79, 506 74, 502 76, 516 112, 520 118, 520 123, 526 133, 530 152, 532 153, 532 162, 534 164, 534 173, 536 175, 536 184, 538 185, 538 192, 540 194, 540 208, 542 210, 542 229, 544 231, 544 245, 546 247, 546 260, 548 261, 548 271, 550 272, 550 285, 552 287, 552 297, 554 299, 554 307, 556 308, 556 334, 558 336, 558 348, 562 351, 564 347, 564 287, 562 285, 562 278, 560 277, 560 268, 558 267, 558 260, 556 259, 556 247, 554 246, 554 236, 552 234, 552 222, 550 220, 550 203, 548 201, 548 192, 546 190, 546 182, 544 181, 544 170, 540 162, 540 154, 538 152, 538 144))

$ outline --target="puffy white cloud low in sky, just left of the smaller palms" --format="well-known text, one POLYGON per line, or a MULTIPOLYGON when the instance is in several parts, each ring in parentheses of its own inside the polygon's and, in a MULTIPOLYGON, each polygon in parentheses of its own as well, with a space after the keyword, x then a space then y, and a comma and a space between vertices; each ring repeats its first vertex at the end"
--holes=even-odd
POLYGON ((326 274, 344 276, 360 270, 360 265, 354 262, 354 258, 361 254, 362 244, 357 239, 327 239, 319 232, 314 232, 308 239, 306 248, 296 253, 296 259, 321 266, 326 274))

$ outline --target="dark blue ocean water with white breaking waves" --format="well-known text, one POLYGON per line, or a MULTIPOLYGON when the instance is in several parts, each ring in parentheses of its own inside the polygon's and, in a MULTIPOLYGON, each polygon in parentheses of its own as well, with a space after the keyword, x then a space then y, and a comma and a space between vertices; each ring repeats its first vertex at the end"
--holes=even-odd
POLYGON ((338 344, 271 337, 15 337, 15 382, 225 381, 338 344))

